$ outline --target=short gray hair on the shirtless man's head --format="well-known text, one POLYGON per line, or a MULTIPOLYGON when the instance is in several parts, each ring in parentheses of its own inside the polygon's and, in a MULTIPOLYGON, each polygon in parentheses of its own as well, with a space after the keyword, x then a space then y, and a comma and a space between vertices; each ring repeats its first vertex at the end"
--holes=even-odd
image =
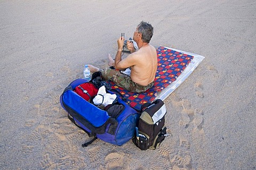
POLYGON ((142 42, 149 43, 154 32, 152 25, 148 22, 141 21, 137 28, 138 32, 142 33, 142 42))

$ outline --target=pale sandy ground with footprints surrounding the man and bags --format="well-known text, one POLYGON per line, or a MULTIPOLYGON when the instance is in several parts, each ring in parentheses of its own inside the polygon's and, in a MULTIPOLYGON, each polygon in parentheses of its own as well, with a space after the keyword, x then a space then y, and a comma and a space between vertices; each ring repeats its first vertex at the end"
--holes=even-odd
POLYGON ((0 1, 0 169, 255 169, 256 2, 0 1), (165 104, 156 150, 89 140, 59 97, 140 21, 151 45, 205 56, 165 104))

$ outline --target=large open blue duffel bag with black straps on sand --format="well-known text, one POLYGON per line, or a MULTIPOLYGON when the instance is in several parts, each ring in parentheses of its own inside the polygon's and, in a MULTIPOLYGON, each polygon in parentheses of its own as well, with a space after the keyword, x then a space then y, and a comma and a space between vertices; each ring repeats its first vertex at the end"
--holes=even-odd
MULTIPOLYGON (((88 146, 97 138, 117 146, 131 140, 135 135, 135 126, 139 120, 137 111, 120 98, 104 109, 93 105, 75 91, 76 87, 84 83, 91 82, 77 79, 71 82, 60 96, 61 106, 68 112, 71 122, 84 130, 89 137, 94 137, 82 146, 88 146)), ((90 89, 83 90, 90 91, 90 89)), ((113 94, 109 90, 107 92, 113 94)))

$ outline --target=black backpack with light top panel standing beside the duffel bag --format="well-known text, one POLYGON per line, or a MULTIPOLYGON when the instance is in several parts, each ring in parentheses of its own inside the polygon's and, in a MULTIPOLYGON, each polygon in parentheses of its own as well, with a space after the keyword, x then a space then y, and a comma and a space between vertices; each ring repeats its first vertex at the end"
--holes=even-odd
POLYGON ((166 107, 161 99, 146 103, 141 106, 141 115, 138 126, 135 128, 136 135, 133 143, 141 150, 156 149, 165 139, 166 107))

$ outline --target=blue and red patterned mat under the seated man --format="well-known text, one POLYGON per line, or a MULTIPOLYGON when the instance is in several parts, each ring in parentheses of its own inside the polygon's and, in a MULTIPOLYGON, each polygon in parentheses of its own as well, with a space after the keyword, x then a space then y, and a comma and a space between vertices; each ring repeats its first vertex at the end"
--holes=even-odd
MULTIPOLYGON (((176 52, 175 50, 165 47, 158 47, 156 50, 158 66, 155 84, 146 92, 130 92, 109 81, 111 88, 119 91, 124 97, 127 98, 125 102, 138 111, 140 110, 141 105, 154 101, 157 96, 157 92, 162 91, 164 88, 169 86, 169 84, 175 81, 194 58, 194 56, 176 52)), ((116 95, 121 97, 118 94, 116 95)))

